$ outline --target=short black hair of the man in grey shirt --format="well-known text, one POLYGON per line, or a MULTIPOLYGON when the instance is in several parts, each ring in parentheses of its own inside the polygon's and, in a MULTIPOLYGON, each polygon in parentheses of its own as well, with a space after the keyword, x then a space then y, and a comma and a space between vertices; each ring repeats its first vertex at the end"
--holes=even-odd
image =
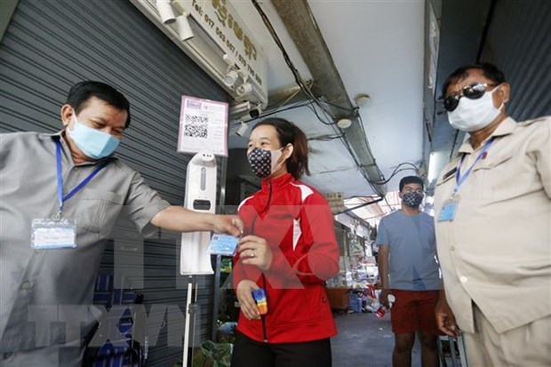
POLYGON ((124 128, 130 126, 130 102, 123 93, 118 92, 109 84, 86 80, 71 87, 67 95, 67 104, 75 108, 76 113, 86 107, 86 103, 92 97, 104 100, 114 108, 124 109, 128 115, 124 128))

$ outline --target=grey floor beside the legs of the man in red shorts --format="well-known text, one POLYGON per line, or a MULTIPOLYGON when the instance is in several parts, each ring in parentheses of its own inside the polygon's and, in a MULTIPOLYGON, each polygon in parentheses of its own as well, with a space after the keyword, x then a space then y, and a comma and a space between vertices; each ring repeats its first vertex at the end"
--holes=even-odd
MULTIPOLYGON (((339 334, 331 339, 333 367, 392 367, 394 334, 390 315, 335 315, 339 334)), ((411 367, 420 367, 419 342, 411 352, 411 367)))

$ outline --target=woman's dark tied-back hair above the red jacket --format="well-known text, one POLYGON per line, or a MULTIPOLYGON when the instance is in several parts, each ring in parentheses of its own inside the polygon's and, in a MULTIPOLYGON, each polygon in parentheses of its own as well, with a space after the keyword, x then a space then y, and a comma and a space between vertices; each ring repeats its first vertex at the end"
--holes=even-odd
POLYGON ((262 125, 274 126, 277 138, 282 147, 292 144, 292 155, 286 161, 287 171, 295 180, 299 180, 303 174, 310 175, 308 170, 308 140, 305 133, 296 124, 284 118, 268 117, 266 120, 254 125, 252 130, 262 125))

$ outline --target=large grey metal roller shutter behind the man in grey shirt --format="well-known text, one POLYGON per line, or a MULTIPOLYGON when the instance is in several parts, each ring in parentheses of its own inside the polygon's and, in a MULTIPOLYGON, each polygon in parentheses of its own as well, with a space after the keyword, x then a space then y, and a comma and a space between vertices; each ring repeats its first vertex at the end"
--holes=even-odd
MULTIPOLYGON (((0 44, 0 132, 59 131, 69 87, 86 79, 112 84, 131 101, 132 125, 118 155, 166 200, 182 204, 191 156, 176 153, 180 96, 228 100, 228 94, 128 1, 20 0, 0 44)), ((220 158, 218 166, 220 194, 220 158)), ((179 234, 145 243, 140 292, 147 309, 177 304, 184 311, 186 290, 175 282, 179 243, 179 234)), ((109 243, 100 271, 112 272, 113 261, 109 243)), ((200 283, 196 339, 205 339, 212 327, 213 277, 200 283)), ((181 347, 166 347, 166 327, 157 344, 148 365, 180 358, 181 347)))

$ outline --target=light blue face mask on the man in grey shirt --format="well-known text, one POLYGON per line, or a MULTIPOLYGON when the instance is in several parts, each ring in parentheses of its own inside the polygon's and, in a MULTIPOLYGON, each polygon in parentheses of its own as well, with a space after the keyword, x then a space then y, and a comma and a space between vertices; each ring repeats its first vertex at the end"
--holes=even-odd
POLYGON ((76 113, 73 130, 67 130, 71 139, 75 141, 76 147, 92 159, 111 156, 120 142, 107 132, 100 132, 85 124, 80 124, 76 119, 76 113))

